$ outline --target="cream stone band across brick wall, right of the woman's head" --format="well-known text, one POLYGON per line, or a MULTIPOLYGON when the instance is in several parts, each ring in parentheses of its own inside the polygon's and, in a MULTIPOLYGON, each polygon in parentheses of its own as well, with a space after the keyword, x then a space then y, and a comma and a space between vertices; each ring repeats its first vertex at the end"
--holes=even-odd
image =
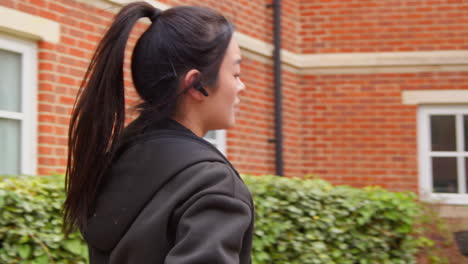
MULTIPOLYGON (((234 37, 241 48, 272 57, 273 45, 252 38, 245 34, 236 32, 234 37)), ((350 72, 349 69, 378 68, 388 69, 390 72, 396 67, 406 68, 403 72, 438 70, 440 66, 449 70, 467 70, 468 51, 446 50, 446 51, 415 51, 415 52, 369 52, 369 53, 332 53, 332 54, 298 54, 287 50, 281 50, 281 61, 292 67, 302 70, 324 70, 323 73, 337 71, 350 72), (426 68, 424 68, 426 67, 426 68), (427 68, 431 67, 431 68, 427 68)), ((353 71, 353 70, 351 70, 353 71)), ((388 71, 383 71, 388 72, 388 71)), ((320 72, 317 72, 320 73, 320 72)))

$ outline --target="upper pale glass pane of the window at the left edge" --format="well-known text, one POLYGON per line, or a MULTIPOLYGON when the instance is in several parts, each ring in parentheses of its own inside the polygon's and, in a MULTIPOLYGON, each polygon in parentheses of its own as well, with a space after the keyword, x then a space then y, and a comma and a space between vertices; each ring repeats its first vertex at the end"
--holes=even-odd
POLYGON ((21 54, 1 49, 0 110, 21 112, 21 54))

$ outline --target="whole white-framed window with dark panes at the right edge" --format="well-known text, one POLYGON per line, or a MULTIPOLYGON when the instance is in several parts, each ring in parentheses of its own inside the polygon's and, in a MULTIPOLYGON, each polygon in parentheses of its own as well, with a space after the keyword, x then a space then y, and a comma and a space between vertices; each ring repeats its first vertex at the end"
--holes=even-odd
POLYGON ((420 106, 418 139, 422 198, 468 204, 468 106, 420 106))

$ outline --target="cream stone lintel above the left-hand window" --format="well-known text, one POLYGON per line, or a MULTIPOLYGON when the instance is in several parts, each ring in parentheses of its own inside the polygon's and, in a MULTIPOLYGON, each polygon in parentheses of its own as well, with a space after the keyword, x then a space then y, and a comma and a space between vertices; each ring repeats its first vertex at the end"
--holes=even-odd
POLYGON ((60 24, 39 16, 0 6, 0 31, 19 37, 60 41, 60 24))

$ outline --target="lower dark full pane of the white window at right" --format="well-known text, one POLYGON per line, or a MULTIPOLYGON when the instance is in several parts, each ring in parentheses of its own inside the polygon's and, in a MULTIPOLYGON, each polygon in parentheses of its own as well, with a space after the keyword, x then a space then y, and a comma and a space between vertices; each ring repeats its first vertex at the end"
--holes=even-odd
POLYGON ((457 193, 457 158, 432 158, 433 189, 436 193, 457 193))

